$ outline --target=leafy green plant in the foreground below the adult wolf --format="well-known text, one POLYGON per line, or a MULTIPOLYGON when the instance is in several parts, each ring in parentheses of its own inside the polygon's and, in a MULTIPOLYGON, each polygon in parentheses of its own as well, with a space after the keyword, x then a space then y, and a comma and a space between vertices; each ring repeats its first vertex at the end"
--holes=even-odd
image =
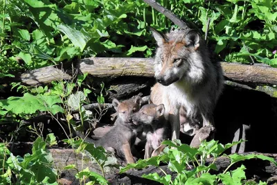
MULTIPOLYGON (((136 162, 136 164, 128 164, 125 168, 120 169, 120 173, 124 173, 126 170, 132 168, 141 169, 148 166, 159 166, 162 162, 163 164, 168 164, 168 168, 177 173, 177 176, 172 177, 162 170, 164 175, 150 173, 148 175, 143 175, 143 177, 160 182, 161 184, 213 185, 221 181, 223 184, 237 185, 244 184, 244 180, 246 179, 244 173, 246 168, 243 165, 235 170, 229 171, 229 168, 238 161, 246 159, 262 159, 271 161, 277 165, 273 158, 263 155, 225 155, 225 157, 228 157, 231 160, 231 164, 223 173, 211 175, 211 173, 209 173, 210 170, 217 170, 215 160, 220 157, 225 150, 238 143, 242 143, 242 140, 228 143, 225 146, 212 140, 202 142, 199 148, 190 148, 190 146, 180 143, 179 140, 176 140, 175 142, 163 141, 163 144, 166 144, 168 148, 164 150, 162 155, 151 157, 150 159, 140 159, 136 162), (208 155, 212 155, 215 158, 212 164, 206 166, 206 159, 208 155)), ((262 184, 262 182, 260 182, 260 184, 262 184)))

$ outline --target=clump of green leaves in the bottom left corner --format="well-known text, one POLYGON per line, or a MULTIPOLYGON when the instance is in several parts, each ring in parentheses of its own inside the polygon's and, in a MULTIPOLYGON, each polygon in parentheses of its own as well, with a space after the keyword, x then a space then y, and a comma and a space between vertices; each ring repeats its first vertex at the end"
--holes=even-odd
POLYGON ((0 184, 57 184, 57 172, 52 168, 53 158, 46 146, 55 144, 55 136, 46 141, 38 137, 33 143, 32 155, 15 157, 3 143, 0 144, 0 184))

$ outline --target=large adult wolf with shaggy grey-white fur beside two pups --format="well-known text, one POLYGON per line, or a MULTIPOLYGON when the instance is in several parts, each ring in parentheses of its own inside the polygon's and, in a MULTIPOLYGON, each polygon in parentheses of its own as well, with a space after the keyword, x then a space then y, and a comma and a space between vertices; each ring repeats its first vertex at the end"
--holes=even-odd
POLYGON ((154 60, 158 83, 152 87, 150 99, 154 104, 165 105, 172 139, 179 139, 182 106, 188 120, 200 115, 200 127, 213 125, 213 109, 223 87, 220 62, 211 62, 206 45, 195 30, 178 28, 161 35, 152 29, 152 35, 158 46, 154 60))

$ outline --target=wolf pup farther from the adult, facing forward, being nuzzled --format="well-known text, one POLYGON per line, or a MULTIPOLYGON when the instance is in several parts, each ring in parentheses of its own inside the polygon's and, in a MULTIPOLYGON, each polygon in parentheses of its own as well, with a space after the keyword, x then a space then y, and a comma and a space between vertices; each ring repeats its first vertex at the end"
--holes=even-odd
POLYGON ((104 148, 112 148, 115 150, 116 155, 124 158, 127 164, 134 163, 134 157, 131 148, 136 139, 136 135, 141 131, 141 125, 132 122, 132 114, 139 111, 141 107, 141 96, 135 96, 129 100, 119 102, 114 99, 112 104, 118 112, 116 125, 107 132, 102 138, 95 141, 93 139, 84 139, 84 134, 78 132, 78 136, 82 137, 89 143, 94 143, 95 146, 102 146, 104 148))

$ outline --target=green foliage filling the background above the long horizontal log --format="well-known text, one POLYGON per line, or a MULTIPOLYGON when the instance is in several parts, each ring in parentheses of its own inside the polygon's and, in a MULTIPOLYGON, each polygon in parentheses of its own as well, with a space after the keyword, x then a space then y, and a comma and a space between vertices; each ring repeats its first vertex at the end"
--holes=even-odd
MULTIPOLYGON (((222 59, 251 62, 251 55, 276 65, 277 1, 159 3, 208 30, 222 59)), ((143 1, 6 0, 0 3, 0 25, 0 73, 9 74, 95 55, 150 57, 154 39, 147 28, 168 30, 172 23, 143 1)))

